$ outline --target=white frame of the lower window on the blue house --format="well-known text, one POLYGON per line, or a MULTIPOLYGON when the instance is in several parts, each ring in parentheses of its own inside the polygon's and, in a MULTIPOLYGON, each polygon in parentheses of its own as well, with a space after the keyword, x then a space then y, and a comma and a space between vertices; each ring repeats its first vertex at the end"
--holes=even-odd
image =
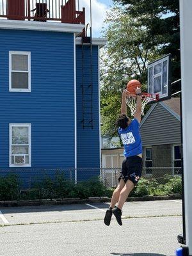
POLYGON ((10 167, 31 167, 31 124, 10 124, 10 167), (29 131, 29 163, 28 164, 12 164, 12 127, 28 127, 29 131))

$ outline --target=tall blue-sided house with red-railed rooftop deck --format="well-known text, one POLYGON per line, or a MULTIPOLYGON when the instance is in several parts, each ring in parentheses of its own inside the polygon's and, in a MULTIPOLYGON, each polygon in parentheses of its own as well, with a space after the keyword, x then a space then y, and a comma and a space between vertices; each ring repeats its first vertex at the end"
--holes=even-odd
POLYGON ((84 9, 76 12, 75 0, 2 1, 0 169, 26 179, 40 169, 79 169, 76 180, 99 175, 99 49, 106 40, 93 38, 91 47, 84 38, 84 9))

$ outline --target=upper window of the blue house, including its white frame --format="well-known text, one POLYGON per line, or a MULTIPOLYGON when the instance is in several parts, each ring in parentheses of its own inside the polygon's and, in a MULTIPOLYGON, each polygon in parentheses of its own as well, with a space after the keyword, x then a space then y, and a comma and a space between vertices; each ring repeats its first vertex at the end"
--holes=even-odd
POLYGON ((10 51, 10 92, 31 92, 31 53, 10 51))

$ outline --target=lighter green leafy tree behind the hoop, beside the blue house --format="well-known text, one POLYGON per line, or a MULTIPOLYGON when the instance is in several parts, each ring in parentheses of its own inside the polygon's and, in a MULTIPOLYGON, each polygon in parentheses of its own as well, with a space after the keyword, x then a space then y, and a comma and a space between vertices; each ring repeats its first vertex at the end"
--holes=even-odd
MULTIPOLYGON (((141 81, 147 89, 147 61, 159 57, 156 47, 148 47, 147 31, 138 19, 115 6, 107 15, 104 36, 108 43, 101 56, 102 134, 116 135, 121 96, 129 79, 141 81), (146 47, 147 45, 147 47, 146 47)), ((128 113, 130 116, 130 113, 128 113)))

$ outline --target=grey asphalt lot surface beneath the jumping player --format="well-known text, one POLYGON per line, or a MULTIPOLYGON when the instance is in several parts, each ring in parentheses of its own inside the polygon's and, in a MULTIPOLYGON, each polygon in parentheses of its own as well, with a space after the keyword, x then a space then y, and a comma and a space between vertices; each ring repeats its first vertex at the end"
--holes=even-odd
POLYGON ((0 255, 170 256, 182 232, 181 200, 126 202, 123 226, 106 227, 109 204, 0 209, 0 255))

